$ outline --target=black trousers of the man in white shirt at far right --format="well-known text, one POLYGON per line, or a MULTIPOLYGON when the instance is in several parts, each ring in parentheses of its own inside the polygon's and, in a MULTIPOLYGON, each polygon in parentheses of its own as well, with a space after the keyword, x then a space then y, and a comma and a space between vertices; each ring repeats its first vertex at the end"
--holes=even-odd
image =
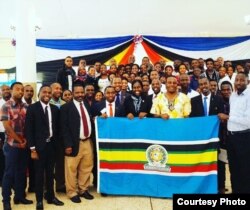
POLYGON ((250 193, 250 132, 229 133, 228 163, 233 193, 250 193))

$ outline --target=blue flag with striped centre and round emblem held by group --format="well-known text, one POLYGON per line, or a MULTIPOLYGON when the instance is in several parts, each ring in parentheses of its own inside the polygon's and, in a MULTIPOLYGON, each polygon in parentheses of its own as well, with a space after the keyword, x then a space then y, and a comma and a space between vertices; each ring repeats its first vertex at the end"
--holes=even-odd
POLYGON ((96 119, 98 191, 172 197, 217 193, 217 116, 96 119))

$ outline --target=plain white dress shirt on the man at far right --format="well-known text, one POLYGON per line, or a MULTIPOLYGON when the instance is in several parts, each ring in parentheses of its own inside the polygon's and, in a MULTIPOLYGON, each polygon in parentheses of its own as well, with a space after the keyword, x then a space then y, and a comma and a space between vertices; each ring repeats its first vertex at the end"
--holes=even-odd
POLYGON ((250 89, 246 88, 240 95, 233 92, 230 97, 230 113, 227 124, 229 131, 250 129, 250 89))

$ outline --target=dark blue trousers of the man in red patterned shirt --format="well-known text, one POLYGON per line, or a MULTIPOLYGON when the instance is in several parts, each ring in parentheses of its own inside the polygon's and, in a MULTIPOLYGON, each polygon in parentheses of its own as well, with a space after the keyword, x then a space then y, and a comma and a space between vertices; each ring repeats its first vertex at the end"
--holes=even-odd
POLYGON ((2 182, 3 203, 10 202, 11 188, 15 191, 15 198, 25 196, 26 169, 28 161, 27 149, 19 149, 4 143, 5 169, 2 182))

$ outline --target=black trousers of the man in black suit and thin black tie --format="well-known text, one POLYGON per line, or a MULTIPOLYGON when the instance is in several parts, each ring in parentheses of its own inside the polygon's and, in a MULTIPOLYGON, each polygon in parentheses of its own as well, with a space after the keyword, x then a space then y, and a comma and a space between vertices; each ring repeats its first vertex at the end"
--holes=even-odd
POLYGON ((52 200, 54 192, 55 147, 53 142, 46 143, 44 150, 37 151, 39 159, 35 160, 35 192, 37 202, 43 200, 44 172, 46 177, 46 197, 52 200))

